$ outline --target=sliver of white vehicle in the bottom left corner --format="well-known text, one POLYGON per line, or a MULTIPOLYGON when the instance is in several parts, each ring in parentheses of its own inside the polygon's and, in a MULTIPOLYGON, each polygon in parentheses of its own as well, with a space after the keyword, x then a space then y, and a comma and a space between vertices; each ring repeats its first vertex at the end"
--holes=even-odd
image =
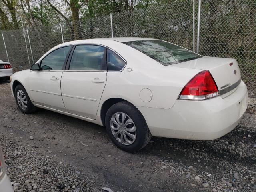
POLYGON ((4 156, 0 148, 0 191, 1 192, 13 192, 12 185, 6 174, 6 167, 4 164, 4 156))

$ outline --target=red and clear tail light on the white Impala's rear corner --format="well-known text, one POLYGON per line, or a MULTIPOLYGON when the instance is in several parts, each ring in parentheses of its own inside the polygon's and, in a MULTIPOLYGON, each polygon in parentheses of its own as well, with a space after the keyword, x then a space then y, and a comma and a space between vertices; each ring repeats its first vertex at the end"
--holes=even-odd
POLYGON ((219 95, 216 83, 209 71, 196 74, 180 92, 179 99, 205 100, 219 95))

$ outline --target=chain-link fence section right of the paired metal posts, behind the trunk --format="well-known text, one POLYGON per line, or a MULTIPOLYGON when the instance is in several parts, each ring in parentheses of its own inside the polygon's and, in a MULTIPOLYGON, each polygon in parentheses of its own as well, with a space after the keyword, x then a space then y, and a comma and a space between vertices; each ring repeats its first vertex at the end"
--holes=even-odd
POLYGON ((256 94, 256 1, 202 1, 200 51, 204 56, 236 58, 242 80, 256 94))

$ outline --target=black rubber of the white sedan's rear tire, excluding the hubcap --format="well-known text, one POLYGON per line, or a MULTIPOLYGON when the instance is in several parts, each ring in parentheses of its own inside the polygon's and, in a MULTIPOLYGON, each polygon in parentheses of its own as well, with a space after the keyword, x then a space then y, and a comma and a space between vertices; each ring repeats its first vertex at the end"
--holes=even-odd
POLYGON ((148 126, 146 124, 144 117, 142 116, 140 111, 135 106, 130 104, 129 102, 122 101, 122 102, 118 102, 118 103, 112 105, 108 109, 108 112, 106 114, 105 125, 106 125, 106 130, 107 130, 108 135, 110 136, 111 140, 114 142, 114 144, 116 144, 116 146, 118 146, 119 148, 121 148, 124 151, 131 152, 131 153, 136 152, 136 151, 144 148, 148 144, 148 142, 150 142, 151 133, 148 129, 148 126), (112 131, 110 128, 110 120, 111 120, 113 114, 115 114, 117 112, 123 112, 123 113, 127 114, 132 119, 132 121, 134 122, 134 124, 136 126, 136 132, 137 132, 136 139, 130 145, 124 145, 124 144, 120 143, 118 140, 116 140, 116 138, 112 134, 112 131))

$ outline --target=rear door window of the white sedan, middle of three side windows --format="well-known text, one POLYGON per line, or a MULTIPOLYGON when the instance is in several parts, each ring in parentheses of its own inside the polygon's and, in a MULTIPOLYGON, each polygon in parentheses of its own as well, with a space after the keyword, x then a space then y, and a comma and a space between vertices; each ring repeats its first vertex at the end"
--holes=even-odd
POLYGON ((69 70, 104 70, 106 68, 106 48, 98 45, 77 45, 71 61, 69 70))

